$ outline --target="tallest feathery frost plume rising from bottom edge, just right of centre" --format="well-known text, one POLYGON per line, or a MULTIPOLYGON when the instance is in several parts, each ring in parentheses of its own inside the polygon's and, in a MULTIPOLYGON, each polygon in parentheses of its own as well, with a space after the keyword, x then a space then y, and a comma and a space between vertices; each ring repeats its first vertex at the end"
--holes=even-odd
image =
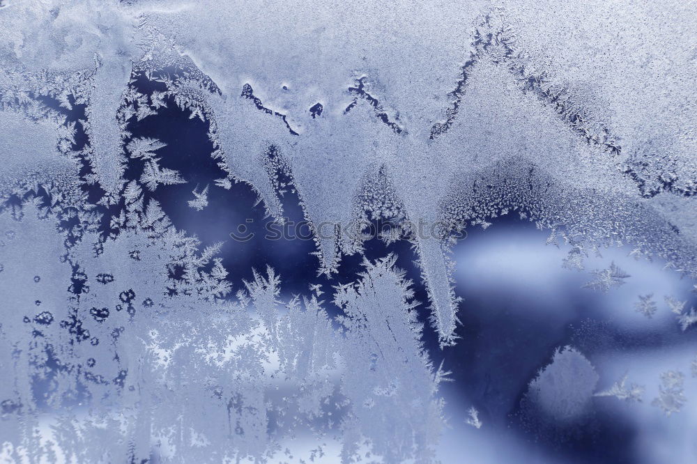
MULTIPOLYGON (((440 422, 438 376, 420 342, 410 282, 394 269, 395 256, 365 262, 355 284, 339 286, 334 300, 346 316, 346 375, 342 392, 353 403, 344 424, 346 437, 367 436, 378 454, 400 462, 412 453, 429 456, 432 427, 440 422), (408 398, 409 408, 401 399, 408 398), (395 446, 399 443, 399 446, 395 446)), ((358 443, 344 443, 346 454, 358 443)))

